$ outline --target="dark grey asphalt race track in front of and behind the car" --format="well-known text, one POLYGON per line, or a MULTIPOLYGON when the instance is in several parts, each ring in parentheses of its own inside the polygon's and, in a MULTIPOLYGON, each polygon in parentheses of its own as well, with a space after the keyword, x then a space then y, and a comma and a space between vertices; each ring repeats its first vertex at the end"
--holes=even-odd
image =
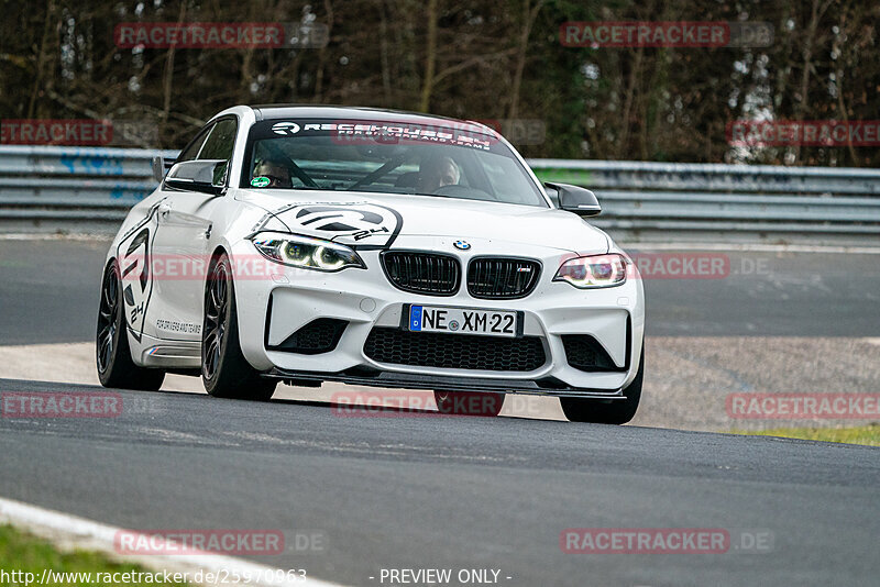
MULTIPOLYGON (((0 344, 90 340, 105 247, 0 241, 0 344)), ((732 267, 766 257, 768 269, 646 281, 649 335, 880 332, 880 256, 729 255, 732 267)), ((0 379, 0 394, 99 389, 0 379)), ((132 529, 319 533, 320 552, 251 558, 352 585, 383 585, 382 568, 492 568, 517 586, 880 575, 873 447, 120 394, 117 418, 0 419, 0 496, 132 529), (565 554, 568 528, 725 529, 733 543, 723 554, 565 554), (751 535, 771 544, 737 547, 751 535)))

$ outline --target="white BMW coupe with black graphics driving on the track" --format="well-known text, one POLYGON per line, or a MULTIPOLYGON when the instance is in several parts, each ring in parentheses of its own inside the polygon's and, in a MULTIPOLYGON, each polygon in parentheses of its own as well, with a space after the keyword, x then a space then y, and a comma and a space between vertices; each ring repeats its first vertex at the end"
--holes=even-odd
POLYGON ((107 254, 105 386, 170 372, 224 398, 341 381, 433 391, 451 413, 497 414, 505 394, 559 397, 573 421, 636 413, 636 267, 585 220, 590 190, 542 186, 492 129, 239 106, 168 166, 107 254))

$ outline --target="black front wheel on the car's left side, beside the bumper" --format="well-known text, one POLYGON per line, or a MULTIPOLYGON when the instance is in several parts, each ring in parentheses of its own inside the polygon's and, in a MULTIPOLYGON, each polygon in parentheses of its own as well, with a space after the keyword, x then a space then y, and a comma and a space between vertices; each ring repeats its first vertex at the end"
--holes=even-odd
POLYGON ((265 401, 276 381, 264 379, 248 363, 239 344, 239 314, 229 257, 211 259, 205 285, 201 328, 201 380, 213 397, 265 401))

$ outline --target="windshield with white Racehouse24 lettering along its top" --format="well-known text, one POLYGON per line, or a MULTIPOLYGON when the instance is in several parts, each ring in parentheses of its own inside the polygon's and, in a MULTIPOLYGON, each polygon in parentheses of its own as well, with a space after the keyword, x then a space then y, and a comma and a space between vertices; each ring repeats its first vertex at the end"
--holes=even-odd
POLYGON ((271 120, 253 125, 248 145, 242 187, 548 207, 513 151, 471 125, 271 120))

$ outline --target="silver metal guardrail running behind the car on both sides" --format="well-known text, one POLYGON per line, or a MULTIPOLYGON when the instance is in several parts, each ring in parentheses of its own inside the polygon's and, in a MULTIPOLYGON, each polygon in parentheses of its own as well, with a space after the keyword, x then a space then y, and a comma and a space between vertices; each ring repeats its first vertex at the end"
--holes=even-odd
MULTIPOLYGON (((174 151, 0 146, 0 231, 112 232, 174 151)), ((880 244, 880 169, 531 159, 588 187, 618 239, 880 244)))

